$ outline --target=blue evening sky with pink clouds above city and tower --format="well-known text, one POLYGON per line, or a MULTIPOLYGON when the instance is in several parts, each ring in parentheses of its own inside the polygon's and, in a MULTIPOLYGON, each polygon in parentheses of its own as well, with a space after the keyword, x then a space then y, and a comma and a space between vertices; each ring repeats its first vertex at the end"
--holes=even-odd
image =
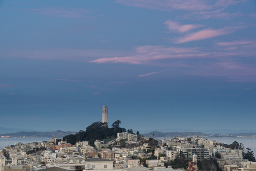
POLYGON ((1 127, 256 130, 256 1, 2 0, 1 127))

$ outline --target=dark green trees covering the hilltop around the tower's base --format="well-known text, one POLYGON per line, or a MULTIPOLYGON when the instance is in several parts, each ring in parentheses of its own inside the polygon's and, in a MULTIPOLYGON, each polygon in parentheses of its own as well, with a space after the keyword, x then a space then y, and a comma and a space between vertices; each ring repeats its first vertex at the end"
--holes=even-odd
POLYGON ((117 138, 117 133, 126 132, 125 128, 120 128, 120 120, 115 121, 111 128, 108 128, 105 123, 97 121, 86 128, 86 131, 80 130, 75 135, 63 137, 63 140, 70 144, 75 144, 79 141, 89 141, 90 145, 94 145, 96 140, 114 139, 117 138))

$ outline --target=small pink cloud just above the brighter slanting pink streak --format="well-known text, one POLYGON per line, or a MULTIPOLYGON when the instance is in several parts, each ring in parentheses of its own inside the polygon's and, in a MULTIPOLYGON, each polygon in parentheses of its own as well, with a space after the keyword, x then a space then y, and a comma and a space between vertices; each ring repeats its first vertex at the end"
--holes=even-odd
POLYGON ((178 22, 167 20, 164 22, 169 30, 179 31, 181 33, 204 27, 204 25, 180 25, 178 22))

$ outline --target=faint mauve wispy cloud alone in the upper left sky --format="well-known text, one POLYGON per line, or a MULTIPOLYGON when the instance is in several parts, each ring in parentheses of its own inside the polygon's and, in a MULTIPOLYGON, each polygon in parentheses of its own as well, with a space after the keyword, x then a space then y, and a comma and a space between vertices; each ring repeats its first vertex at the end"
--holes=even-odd
POLYGON ((54 17, 67 17, 67 18, 83 18, 86 17, 89 10, 87 9, 66 9, 66 8, 32 8, 28 9, 37 14, 49 15, 54 17))

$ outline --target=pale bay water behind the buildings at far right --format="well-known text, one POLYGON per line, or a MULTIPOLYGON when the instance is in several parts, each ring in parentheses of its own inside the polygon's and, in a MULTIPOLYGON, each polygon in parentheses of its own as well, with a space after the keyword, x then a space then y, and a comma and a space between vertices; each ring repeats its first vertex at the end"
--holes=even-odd
POLYGON ((254 156, 256 156, 256 138, 206 138, 209 140, 216 140, 217 142, 223 142, 225 144, 231 144, 234 141, 242 143, 246 148, 249 148, 253 151, 254 156))

